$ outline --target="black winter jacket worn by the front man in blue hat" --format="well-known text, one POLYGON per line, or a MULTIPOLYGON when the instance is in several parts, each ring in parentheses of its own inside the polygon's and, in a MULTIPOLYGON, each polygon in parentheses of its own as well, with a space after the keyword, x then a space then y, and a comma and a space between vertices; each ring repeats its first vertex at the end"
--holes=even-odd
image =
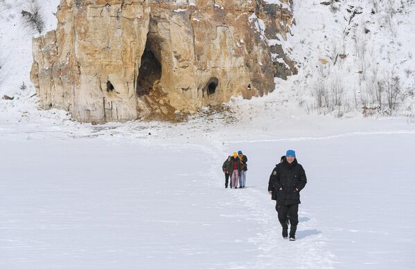
POLYGON ((306 172, 297 163, 297 159, 294 159, 291 164, 287 160, 284 160, 283 163, 279 163, 272 170, 268 190, 272 187, 272 196, 274 196, 274 193, 276 194, 276 203, 294 205, 301 203, 300 192, 306 184, 306 172), (280 188, 282 189, 280 190, 280 188))

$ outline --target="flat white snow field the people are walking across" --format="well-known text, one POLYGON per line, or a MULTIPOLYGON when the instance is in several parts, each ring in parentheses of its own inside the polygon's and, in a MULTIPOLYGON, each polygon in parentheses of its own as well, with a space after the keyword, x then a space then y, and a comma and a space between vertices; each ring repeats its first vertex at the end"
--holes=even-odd
POLYGON ((0 268, 414 266, 415 128, 403 118, 92 127, 49 113, 0 122, 0 268), (294 242, 267 193, 290 148, 308 176, 294 242), (238 149, 247 188, 225 189, 238 149))

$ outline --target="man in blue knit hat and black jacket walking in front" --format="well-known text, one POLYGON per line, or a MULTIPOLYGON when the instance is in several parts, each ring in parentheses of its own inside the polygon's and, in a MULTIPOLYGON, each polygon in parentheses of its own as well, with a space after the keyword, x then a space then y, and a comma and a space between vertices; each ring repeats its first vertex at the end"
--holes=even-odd
POLYGON ((288 238, 287 215, 290 216, 290 241, 295 240, 295 232, 299 223, 298 211, 300 192, 306 186, 307 177, 303 167, 297 163, 295 151, 285 154, 285 160, 276 165, 270 177, 270 183, 276 190, 276 210, 283 227, 283 237, 288 238))

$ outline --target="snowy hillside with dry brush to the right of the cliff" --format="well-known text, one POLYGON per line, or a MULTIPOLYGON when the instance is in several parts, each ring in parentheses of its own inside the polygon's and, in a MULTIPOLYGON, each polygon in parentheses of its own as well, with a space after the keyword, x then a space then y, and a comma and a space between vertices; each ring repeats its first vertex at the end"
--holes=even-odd
POLYGON ((282 44, 301 66, 290 89, 306 111, 413 115, 414 1, 299 0, 294 17, 282 44))

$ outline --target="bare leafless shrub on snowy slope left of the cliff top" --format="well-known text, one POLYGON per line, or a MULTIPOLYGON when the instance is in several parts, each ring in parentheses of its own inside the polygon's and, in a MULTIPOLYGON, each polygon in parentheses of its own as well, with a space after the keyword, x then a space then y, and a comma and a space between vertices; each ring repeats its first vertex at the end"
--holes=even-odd
POLYGON ((27 10, 21 10, 23 24, 30 33, 41 34, 44 30, 44 18, 37 0, 28 0, 27 10))

